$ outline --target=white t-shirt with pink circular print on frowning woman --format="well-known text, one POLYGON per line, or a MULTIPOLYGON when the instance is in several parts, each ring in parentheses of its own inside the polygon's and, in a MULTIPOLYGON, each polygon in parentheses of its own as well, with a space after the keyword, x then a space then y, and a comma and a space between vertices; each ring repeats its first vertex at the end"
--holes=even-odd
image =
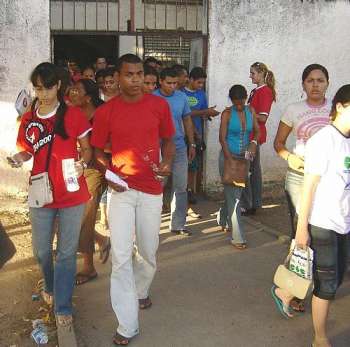
POLYGON ((311 106, 305 100, 287 106, 281 122, 293 128, 293 153, 304 157, 307 140, 329 124, 331 108, 332 104, 328 100, 321 106, 311 106))

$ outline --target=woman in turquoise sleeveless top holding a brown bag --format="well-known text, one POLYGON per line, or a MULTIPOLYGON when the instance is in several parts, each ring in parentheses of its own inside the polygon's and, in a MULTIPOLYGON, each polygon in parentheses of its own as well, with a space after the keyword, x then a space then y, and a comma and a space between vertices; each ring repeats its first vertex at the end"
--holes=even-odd
POLYGON ((255 111, 246 106, 247 91, 233 85, 229 91, 232 106, 221 115, 219 172, 224 184, 225 202, 218 214, 218 224, 232 232, 232 245, 247 248, 241 223, 240 199, 248 178, 249 161, 254 158, 259 138, 255 111), (250 135, 253 139, 250 141, 250 135))

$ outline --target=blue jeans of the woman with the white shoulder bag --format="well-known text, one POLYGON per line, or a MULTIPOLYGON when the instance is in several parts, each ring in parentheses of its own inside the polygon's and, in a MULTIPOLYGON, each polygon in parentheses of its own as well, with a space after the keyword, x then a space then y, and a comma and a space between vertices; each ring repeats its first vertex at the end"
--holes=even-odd
POLYGON ((54 296, 55 313, 72 314, 76 254, 85 204, 66 208, 30 208, 32 242, 45 280, 45 291, 54 296), (52 243, 58 217, 57 256, 54 265, 52 243))

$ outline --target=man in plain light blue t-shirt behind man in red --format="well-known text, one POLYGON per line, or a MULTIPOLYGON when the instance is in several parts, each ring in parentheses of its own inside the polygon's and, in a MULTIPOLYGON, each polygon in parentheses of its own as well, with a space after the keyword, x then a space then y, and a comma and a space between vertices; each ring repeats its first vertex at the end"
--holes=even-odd
POLYGON ((159 76, 160 88, 153 94, 164 98, 168 102, 176 129, 174 137, 176 153, 172 164, 170 231, 189 236, 191 233, 185 228, 187 215, 187 167, 188 162, 191 162, 195 156, 196 145, 194 143, 191 109, 186 95, 176 90, 177 83, 176 71, 171 68, 165 68, 159 76), (189 143, 188 151, 185 143, 185 134, 189 143))

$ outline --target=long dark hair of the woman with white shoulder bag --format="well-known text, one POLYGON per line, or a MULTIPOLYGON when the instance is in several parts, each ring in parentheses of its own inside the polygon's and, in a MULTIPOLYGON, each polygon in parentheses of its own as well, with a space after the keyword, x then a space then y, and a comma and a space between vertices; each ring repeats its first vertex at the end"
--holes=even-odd
MULTIPOLYGON (((30 76, 30 81, 34 87, 38 86, 38 82, 40 81, 45 88, 51 88, 59 83, 60 73, 55 65, 51 63, 41 63, 33 70, 30 76)), ((57 99, 60 102, 60 105, 56 112, 54 133, 60 135, 63 139, 67 139, 68 135, 64 127, 64 116, 67 111, 67 105, 63 97, 64 88, 62 88, 61 83, 61 87, 57 92, 57 99)), ((32 103, 32 113, 35 111, 36 101, 32 103)))

